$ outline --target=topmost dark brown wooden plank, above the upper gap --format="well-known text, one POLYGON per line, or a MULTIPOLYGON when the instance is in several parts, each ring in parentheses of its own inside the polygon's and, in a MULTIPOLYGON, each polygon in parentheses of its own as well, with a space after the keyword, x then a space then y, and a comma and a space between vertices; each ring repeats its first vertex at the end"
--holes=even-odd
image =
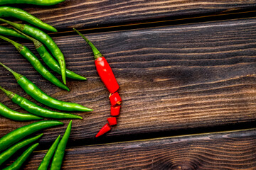
MULTIPOLYGON (((14 5, 13 5, 14 6, 14 5)), ((204 16, 255 8, 255 0, 107 1, 66 0, 56 6, 17 5, 46 23, 63 28, 97 28, 145 21, 204 16)))

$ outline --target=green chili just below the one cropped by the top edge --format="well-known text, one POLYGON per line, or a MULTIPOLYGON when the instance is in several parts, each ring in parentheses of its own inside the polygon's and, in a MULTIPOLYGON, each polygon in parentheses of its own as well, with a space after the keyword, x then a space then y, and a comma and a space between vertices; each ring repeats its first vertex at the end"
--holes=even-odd
MULTIPOLYGON (((0 4, 1 4, 0 0, 0 4)), ((11 1, 11 0, 6 0, 6 1, 11 1)), ((34 0, 33 0, 34 1, 34 0)), ((26 21, 28 23, 33 24, 34 26, 38 26, 40 28, 50 30, 53 32, 57 32, 57 30, 53 27, 48 25, 47 23, 44 23, 40 19, 36 18, 35 16, 32 16, 30 13, 23 11, 20 8, 14 8, 11 6, 1 6, 0 7, 0 16, 1 17, 14 17, 21 19, 22 21, 26 21)))

